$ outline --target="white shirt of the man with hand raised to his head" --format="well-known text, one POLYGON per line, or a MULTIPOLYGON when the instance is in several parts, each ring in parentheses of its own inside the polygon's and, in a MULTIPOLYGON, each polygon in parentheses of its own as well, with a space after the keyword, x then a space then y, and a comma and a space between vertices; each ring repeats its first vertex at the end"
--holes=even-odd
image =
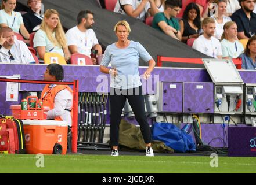
POLYGON ((0 63, 11 63, 11 64, 29 64, 34 63, 34 57, 32 56, 30 50, 26 43, 23 41, 15 39, 14 45, 10 49, 10 53, 12 54, 14 60, 9 55, 9 50, 5 49, 5 47, 1 47, 0 49, 0 63))

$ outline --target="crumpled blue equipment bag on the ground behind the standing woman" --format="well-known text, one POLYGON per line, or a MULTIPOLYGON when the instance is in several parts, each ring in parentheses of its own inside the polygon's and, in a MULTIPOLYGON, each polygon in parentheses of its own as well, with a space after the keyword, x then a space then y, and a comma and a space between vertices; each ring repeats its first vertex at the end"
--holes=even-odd
POLYGON ((153 140, 164 142, 166 146, 171 147, 175 152, 196 151, 196 144, 192 136, 181 131, 172 123, 155 122, 151 129, 153 140))

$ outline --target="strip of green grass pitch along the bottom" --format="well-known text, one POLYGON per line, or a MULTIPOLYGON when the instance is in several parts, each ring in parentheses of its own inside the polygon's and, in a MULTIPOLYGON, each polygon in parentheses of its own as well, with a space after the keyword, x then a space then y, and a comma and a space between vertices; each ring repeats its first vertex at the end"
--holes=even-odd
POLYGON ((0 154, 0 173, 256 173, 256 157, 0 154), (39 161, 41 163, 39 163, 39 161))

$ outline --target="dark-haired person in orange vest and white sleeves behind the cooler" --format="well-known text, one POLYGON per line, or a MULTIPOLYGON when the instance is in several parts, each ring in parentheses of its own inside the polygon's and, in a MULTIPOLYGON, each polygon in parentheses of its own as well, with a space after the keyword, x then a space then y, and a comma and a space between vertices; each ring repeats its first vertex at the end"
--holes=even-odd
MULTIPOLYGON (((44 73, 45 81, 61 82, 64 70, 60 64, 49 64, 44 73)), ((66 121, 72 127, 73 90, 67 85, 46 84, 41 94, 42 103, 48 106, 47 119, 66 121)))

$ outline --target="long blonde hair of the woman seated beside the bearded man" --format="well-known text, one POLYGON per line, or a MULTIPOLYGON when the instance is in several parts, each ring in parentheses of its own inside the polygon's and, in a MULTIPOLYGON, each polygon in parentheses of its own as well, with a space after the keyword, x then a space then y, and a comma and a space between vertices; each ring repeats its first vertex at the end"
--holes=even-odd
POLYGON ((46 33, 48 39, 53 43, 53 45, 65 48, 67 46, 67 41, 66 41, 65 33, 62 28, 62 23, 60 23, 60 19, 58 21, 57 27, 53 31, 55 32, 55 37, 52 35, 52 31, 49 29, 48 25, 46 24, 45 20, 50 18, 52 14, 57 14, 57 16, 60 17, 57 10, 54 10, 54 9, 46 10, 44 14, 44 19, 42 20, 42 23, 41 23, 41 29, 46 33))

